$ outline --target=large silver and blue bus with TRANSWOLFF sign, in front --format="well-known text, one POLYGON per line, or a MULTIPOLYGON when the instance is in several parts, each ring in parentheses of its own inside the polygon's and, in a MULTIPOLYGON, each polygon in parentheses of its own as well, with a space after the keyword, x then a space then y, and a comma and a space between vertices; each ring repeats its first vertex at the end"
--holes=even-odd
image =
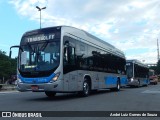
MULTIPOLYGON (((120 90, 127 83, 124 53, 74 27, 56 26, 26 32, 18 54, 19 91, 56 93, 120 90)), ((11 55, 10 48, 10 55, 11 55)))

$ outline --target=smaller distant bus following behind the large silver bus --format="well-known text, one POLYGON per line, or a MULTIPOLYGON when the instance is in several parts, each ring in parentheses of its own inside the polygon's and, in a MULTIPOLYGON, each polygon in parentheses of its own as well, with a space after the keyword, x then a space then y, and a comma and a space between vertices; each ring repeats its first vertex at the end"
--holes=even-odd
POLYGON ((127 60, 126 71, 128 86, 147 86, 149 84, 149 68, 138 60, 127 60))

